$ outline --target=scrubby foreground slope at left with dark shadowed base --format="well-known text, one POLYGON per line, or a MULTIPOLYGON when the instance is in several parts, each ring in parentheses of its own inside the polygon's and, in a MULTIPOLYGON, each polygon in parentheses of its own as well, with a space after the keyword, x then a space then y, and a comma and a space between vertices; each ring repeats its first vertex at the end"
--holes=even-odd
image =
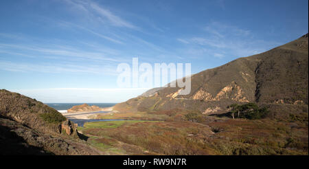
POLYGON ((0 90, 1 155, 99 155, 76 127, 42 102, 0 90))

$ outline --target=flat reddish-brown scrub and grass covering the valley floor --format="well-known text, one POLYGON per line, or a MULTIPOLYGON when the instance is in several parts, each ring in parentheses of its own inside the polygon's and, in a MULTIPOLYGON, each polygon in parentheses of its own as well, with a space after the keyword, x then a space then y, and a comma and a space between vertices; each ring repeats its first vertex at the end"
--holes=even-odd
POLYGON ((89 122, 78 130, 107 155, 308 155, 308 123, 298 121, 205 116, 89 122))

